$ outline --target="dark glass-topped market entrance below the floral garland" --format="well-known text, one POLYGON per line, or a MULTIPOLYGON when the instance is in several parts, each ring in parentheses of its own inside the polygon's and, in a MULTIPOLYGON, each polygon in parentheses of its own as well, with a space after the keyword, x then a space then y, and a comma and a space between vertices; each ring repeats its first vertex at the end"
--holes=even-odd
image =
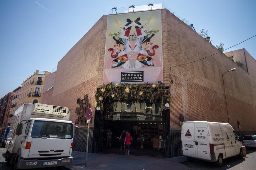
MULTIPOLYGON (((95 150, 100 153, 125 154, 120 150, 120 134, 123 129, 134 137, 130 153, 133 155, 164 156, 165 123, 163 121, 161 103, 106 103, 100 113, 99 143, 95 150), (107 130, 112 132, 111 147, 107 146, 107 130), (140 134, 144 132, 143 149, 140 134), (97 149, 98 148, 98 149, 97 149)), ((97 121, 99 123, 99 121, 97 121)), ((96 127, 96 126, 95 126, 96 127)), ((99 132, 98 131, 98 132, 99 132)), ((95 131, 94 131, 95 132, 95 131)), ((96 137, 97 138, 97 137, 96 137)), ((96 152, 96 151, 95 151, 96 152)))

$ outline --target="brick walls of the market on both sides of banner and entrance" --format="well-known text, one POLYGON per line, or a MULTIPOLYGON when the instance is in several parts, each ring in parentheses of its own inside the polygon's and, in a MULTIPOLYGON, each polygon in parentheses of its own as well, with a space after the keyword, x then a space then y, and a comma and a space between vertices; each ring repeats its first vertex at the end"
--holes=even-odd
MULTIPOLYGON (((70 108, 73 122, 78 117, 75 113, 79 107, 77 99, 86 94, 94 117, 94 95, 103 77, 106 26, 107 16, 102 16, 59 61, 55 79, 46 76, 46 81, 49 77, 49 81, 54 82, 54 88, 44 92, 42 103, 70 108)), ((180 155, 180 114, 185 121, 227 123, 227 106, 230 124, 237 132, 237 120, 241 123, 241 134, 256 132, 253 125, 256 120, 256 62, 248 52, 245 53, 250 63, 249 72, 246 72, 167 9, 162 9, 162 43, 164 86, 170 87, 172 98, 172 157, 180 155), (236 71, 223 76, 226 105, 222 73, 235 67, 236 71)), ((89 151, 93 147, 93 124, 90 124, 89 151)), ((87 127, 82 125, 79 136, 74 139, 74 150, 84 151, 86 137, 87 127)))

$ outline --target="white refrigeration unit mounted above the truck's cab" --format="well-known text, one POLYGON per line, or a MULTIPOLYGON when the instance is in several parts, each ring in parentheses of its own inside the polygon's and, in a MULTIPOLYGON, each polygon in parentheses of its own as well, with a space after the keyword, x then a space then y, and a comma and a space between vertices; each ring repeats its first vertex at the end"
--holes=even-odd
POLYGON ((51 117, 61 117, 63 118, 68 114, 68 108, 61 106, 52 106, 41 103, 34 104, 33 115, 43 115, 51 117))

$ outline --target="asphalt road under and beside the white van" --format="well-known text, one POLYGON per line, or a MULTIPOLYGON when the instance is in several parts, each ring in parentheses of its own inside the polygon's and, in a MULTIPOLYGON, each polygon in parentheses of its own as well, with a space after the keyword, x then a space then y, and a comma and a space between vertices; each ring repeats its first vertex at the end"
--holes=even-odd
POLYGON ((246 157, 239 159, 238 157, 230 157, 223 159, 223 166, 217 167, 213 162, 206 162, 201 160, 194 160, 192 162, 186 161, 182 164, 191 168, 191 170, 254 170, 256 169, 256 148, 246 148, 246 157))

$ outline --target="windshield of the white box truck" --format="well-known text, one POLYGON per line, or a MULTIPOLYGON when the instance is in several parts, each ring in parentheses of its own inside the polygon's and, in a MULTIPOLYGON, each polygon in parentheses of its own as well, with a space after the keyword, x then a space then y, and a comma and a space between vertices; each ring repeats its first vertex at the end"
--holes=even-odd
POLYGON ((73 138, 72 123, 36 120, 31 130, 33 138, 73 138))

